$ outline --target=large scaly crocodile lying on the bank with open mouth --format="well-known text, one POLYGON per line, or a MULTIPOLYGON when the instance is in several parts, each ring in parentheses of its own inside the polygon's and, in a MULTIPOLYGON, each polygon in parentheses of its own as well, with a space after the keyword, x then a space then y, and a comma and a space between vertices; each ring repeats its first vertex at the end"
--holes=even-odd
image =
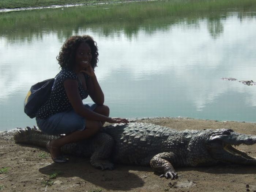
MULTIPOLYGON (((20 130, 14 136, 18 143, 46 146, 57 136, 46 135, 36 128, 20 130)), ((113 169, 113 164, 151 166, 160 177, 177 178, 175 166, 203 166, 217 163, 256 165, 250 157, 232 145, 252 145, 256 136, 231 129, 185 130, 147 123, 109 125, 89 140, 71 143, 61 150, 66 154, 90 157, 93 166, 113 169)))

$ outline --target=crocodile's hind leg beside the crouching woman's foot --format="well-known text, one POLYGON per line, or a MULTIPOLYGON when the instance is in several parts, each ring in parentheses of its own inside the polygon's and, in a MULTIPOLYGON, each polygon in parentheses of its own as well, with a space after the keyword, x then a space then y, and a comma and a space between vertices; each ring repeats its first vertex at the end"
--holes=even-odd
POLYGON ((99 133, 93 138, 92 146, 94 152, 90 158, 91 165, 101 170, 113 170, 114 165, 110 162, 110 155, 114 146, 112 136, 107 133, 99 133))

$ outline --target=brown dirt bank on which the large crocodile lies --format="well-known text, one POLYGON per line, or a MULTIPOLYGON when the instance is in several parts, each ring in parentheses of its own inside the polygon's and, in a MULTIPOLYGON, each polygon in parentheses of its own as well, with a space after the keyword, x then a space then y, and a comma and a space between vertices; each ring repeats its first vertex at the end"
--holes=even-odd
MULTIPOLYGON (((256 123, 220 122, 189 118, 144 118, 178 130, 231 128, 256 135, 256 123)), ((176 167, 177 180, 160 178, 150 167, 115 165, 112 171, 94 169, 87 158, 69 157, 53 163, 44 148, 16 144, 13 132, 0 132, 0 191, 37 192, 202 192, 256 191, 256 166, 219 165, 176 167)), ((256 146, 239 146, 256 157, 256 146)))

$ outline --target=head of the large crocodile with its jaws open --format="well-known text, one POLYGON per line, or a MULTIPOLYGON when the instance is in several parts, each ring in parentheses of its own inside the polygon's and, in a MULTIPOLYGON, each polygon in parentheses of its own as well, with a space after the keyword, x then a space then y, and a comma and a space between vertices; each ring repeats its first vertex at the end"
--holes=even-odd
POLYGON ((240 144, 256 144, 256 136, 236 133, 232 129, 214 130, 206 141, 206 147, 211 157, 218 162, 256 165, 256 158, 234 146, 240 144))

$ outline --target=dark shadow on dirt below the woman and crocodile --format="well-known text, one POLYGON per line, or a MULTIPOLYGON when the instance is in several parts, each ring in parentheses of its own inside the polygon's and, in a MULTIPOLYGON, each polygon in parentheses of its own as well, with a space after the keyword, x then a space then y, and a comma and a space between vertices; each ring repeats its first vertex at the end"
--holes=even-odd
MULTIPOLYGON (((85 182, 105 189, 128 191, 144 185, 142 178, 132 173, 133 168, 132 166, 116 165, 114 170, 101 171, 92 167, 88 158, 70 157, 67 163, 52 163, 40 168, 39 172, 47 175, 60 173, 60 177, 67 178, 80 177, 85 182)), ((150 171, 150 168, 138 166, 135 172, 140 170, 150 171)))

